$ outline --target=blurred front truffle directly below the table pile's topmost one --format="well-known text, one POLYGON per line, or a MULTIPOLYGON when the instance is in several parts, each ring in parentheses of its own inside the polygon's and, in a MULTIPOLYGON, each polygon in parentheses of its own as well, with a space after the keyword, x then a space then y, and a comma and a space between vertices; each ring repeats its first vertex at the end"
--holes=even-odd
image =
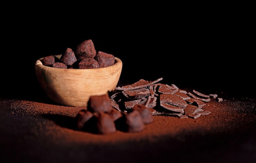
POLYGON ((97 119, 96 126, 99 134, 110 134, 117 131, 114 119, 108 113, 99 112, 95 117, 97 119))

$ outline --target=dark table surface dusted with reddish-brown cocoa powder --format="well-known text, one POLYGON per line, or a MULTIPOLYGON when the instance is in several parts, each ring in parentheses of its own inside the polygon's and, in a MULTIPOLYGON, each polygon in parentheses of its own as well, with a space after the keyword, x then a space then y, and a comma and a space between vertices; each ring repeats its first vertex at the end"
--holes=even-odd
MULTIPOLYGON (((46 97, 0 100, 5 162, 248 162, 256 161, 256 99, 207 102, 197 119, 153 116, 143 131, 95 134, 76 130, 83 107, 46 97)), ((85 108, 86 109, 86 108, 85 108)))

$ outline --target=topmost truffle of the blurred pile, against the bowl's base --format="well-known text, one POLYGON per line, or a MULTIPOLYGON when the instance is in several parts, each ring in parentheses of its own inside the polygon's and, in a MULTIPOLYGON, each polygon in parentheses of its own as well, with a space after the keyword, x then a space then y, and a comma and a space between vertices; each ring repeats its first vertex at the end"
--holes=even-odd
POLYGON ((91 112, 110 112, 112 106, 108 94, 91 96, 88 100, 88 110, 91 112))

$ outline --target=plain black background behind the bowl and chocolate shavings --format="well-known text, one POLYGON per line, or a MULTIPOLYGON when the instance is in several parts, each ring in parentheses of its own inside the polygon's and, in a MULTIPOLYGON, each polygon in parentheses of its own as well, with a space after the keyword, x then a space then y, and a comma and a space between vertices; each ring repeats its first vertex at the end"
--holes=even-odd
POLYGON ((255 97, 255 50, 247 13, 164 6, 11 8, 2 20, 0 97, 40 96, 36 60, 88 39, 97 51, 122 60, 120 85, 163 77, 161 83, 180 88, 255 97))

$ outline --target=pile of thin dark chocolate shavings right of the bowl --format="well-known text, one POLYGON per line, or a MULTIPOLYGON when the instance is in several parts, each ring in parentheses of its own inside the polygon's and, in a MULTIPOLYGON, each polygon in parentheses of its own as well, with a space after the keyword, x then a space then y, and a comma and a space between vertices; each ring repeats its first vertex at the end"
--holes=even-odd
POLYGON ((209 115, 203 106, 217 94, 204 95, 196 90, 193 93, 179 89, 174 84, 167 85, 158 83, 163 78, 155 81, 140 79, 134 84, 116 87, 110 93, 113 108, 127 114, 132 111, 136 104, 143 104, 150 108, 152 115, 170 115, 180 118, 198 118, 201 115, 209 115))

